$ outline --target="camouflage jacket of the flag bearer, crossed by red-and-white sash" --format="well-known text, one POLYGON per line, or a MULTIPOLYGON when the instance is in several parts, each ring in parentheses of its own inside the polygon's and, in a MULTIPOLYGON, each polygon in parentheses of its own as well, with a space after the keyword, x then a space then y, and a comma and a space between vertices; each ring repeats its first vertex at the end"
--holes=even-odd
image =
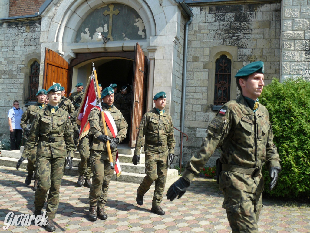
MULTIPOLYGON (((102 106, 102 108, 103 108, 103 111, 108 111, 111 113, 111 116, 113 117, 115 121, 115 125, 116 125, 116 131, 117 131, 116 137, 118 138, 119 142, 121 142, 122 140, 126 138, 126 133, 127 133, 127 128, 128 128, 128 124, 125 118, 115 106, 109 109, 107 109, 105 106, 102 106)), ((90 131, 93 134, 93 142, 90 146, 90 149, 107 151, 106 144, 97 139, 99 135, 102 135, 102 134, 104 135, 103 124, 101 120, 101 113, 97 107, 94 107, 89 113, 88 121, 89 121, 90 131)), ((110 138, 113 138, 113 135, 110 129, 108 128, 108 126, 107 126, 107 133, 110 138)), ((114 150, 111 148, 112 152, 116 150, 117 148, 114 148, 114 150)))

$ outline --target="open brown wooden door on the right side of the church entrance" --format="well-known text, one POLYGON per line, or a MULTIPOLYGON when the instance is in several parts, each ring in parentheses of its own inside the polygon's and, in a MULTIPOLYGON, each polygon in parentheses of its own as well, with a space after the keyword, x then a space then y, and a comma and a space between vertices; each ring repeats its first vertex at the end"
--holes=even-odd
POLYGON ((134 77, 132 82, 132 113, 129 146, 135 147, 140 121, 144 115, 147 74, 144 53, 138 43, 135 46, 134 77))

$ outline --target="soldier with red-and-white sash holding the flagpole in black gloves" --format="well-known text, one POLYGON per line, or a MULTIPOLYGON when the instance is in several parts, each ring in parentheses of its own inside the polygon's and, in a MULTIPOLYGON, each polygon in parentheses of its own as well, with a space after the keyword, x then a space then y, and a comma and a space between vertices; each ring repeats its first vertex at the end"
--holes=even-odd
POLYGON ((108 202, 108 188, 114 170, 112 170, 110 166, 106 142, 110 141, 112 158, 115 166, 117 144, 125 139, 128 127, 122 113, 113 106, 114 90, 110 87, 103 89, 101 99, 103 102, 103 111, 109 112, 115 121, 117 135, 113 138, 108 127, 108 135, 104 135, 100 109, 94 107, 88 116, 90 130, 93 134, 93 140, 90 146, 91 171, 93 172, 91 189, 89 190, 90 221, 96 221, 97 217, 100 219, 108 218, 107 214, 104 212, 104 206, 108 202))

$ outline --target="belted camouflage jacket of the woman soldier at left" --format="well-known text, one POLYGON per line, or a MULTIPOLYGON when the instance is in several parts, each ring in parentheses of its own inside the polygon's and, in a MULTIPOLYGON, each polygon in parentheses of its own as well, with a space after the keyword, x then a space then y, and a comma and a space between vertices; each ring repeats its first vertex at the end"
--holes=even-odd
POLYGON ((72 135, 72 124, 68 112, 59 108, 52 114, 48 107, 40 110, 32 125, 31 134, 25 144, 23 157, 28 156, 36 142, 38 142, 37 155, 43 157, 58 158, 60 156, 71 156, 76 151, 72 135), (63 140, 46 142, 41 140, 52 137, 63 137, 63 140))

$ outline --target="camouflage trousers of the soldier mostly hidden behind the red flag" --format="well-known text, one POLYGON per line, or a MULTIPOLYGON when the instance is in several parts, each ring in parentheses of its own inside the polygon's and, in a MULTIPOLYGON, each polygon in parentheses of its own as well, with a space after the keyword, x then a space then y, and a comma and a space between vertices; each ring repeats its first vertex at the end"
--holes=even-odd
POLYGON ((86 137, 83 137, 80 140, 80 143, 78 145, 79 153, 81 160, 78 164, 78 173, 80 176, 84 176, 87 179, 90 179, 92 176, 91 173, 91 163, 89 161, 89 139, 86 137))

